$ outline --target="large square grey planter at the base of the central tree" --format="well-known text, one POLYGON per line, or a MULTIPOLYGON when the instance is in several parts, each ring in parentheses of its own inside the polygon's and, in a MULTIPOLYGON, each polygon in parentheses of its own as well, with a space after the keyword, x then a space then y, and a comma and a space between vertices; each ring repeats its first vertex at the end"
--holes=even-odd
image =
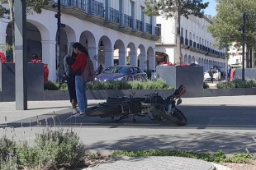
POLYGON ((156 74, 170 87, 178 89, 184 85, 187 89, 184 96, 202 96, 203 67, 157 66, 156 74))

